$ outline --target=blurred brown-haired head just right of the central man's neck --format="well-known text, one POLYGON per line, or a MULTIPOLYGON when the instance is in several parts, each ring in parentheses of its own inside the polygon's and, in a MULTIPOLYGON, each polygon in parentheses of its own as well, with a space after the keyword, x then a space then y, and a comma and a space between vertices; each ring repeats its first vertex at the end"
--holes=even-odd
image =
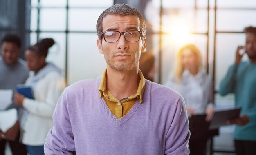
POLYGON ((139 59, 139 69, 145 79, 154 82, 155 76, 155 56, 150 52, 141 53, 139 59))

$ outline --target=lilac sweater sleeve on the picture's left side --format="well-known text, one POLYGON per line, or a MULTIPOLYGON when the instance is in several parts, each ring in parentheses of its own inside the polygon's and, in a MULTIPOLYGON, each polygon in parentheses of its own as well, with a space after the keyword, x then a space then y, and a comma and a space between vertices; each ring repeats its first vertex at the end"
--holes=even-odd
POLYGON ((45 155, 72 155, 75 152, 74 136, 67 108, 65 90, 53 114, 54 126, 44 145, 45 155))

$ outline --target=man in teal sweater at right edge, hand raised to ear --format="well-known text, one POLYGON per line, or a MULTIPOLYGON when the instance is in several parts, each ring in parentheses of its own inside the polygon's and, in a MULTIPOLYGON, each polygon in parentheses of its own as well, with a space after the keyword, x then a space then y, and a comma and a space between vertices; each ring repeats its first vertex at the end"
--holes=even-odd
POLYGON ((220 83, 220 95, 235 93, 235 104, 241 106, 240 117, 228 120, 236 124, 234 139, 237 155, 256 153, 256 27, 245 28, 245 47, 238 46, 235 64, 230 66, 227 75, 220 83), (245 48, 249 61, 240 62, 245 48))

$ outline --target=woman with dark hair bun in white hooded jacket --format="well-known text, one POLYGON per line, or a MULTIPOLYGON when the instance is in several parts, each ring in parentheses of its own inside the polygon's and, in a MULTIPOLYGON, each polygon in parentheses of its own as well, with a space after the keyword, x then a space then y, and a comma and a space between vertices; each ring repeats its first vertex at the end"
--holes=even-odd
POLYGON ((15 101, 22 106, 22 143, 30 155, 44 155, 43 145, 53 126, 52 114, 65 84, 61 69, 45 59, 54 40, 46 38, 25 51, 30 75, 25 84, 31 86, 34 100, 16 93, 15 101))

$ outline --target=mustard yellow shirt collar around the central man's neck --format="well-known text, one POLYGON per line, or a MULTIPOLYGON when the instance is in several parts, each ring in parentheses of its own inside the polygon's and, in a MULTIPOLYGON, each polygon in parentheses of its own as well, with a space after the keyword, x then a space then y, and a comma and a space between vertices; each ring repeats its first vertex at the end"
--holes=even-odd
MULTIPOLYGON (((105 69, 105 71, 103 72, 102 76, 101 76, 101 83, 99 86, 99 97, 101 98, 103 95, 104 97, 108 98, 108 94, 107 94, 107 90, 106 90, 106 74, 107 74, 107 69, 105 69)), ((130 96, 130 97, 137 97, 139 99, 139 103, 142 103, 142 98, 143 98, 143 93, 145 90, 145 86, 146 86, 146 80, 141 72, 141 70, 139 70, 139 86, 137 89, 137 93, 130 96)))

